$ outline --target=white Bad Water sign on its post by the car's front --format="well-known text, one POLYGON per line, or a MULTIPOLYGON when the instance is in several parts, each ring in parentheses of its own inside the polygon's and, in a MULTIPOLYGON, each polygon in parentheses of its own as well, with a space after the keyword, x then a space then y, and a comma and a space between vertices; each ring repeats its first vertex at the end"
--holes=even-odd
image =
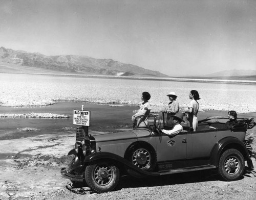
POLYGON ((79 125, 76 128, 76 141, 83 140, 89 134, 91 120, 91 111, 84 111, 83 105, 81 110, 74 110, 73 112, 73 124, 79 125))

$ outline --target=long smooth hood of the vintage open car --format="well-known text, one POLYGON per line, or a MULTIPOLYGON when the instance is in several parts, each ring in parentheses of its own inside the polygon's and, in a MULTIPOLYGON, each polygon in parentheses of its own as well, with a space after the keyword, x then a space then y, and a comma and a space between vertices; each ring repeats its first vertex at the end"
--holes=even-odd
POLYGON ((150 135, 150 131, 146 129, 136 129, 131 131, 122 131, 117 133, 105 133, 93 135, 96 142, 125 140, 125 139, 138 139, 150 135))

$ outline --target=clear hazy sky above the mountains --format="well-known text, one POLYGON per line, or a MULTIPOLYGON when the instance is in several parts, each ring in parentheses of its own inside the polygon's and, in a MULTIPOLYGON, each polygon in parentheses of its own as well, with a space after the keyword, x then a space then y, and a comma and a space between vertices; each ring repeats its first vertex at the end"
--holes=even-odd
POLYGON ((255 0, 0 0, 0 46, 169 76, 256 69, 255 0))

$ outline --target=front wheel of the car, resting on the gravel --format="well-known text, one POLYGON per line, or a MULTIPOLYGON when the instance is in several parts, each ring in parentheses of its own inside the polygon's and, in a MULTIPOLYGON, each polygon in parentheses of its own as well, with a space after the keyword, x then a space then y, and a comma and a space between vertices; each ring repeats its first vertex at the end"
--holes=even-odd
POLYGON ((86 167, 87 185, 97 193, 115 189, 119 181, 119 169, 110 162, 100 162, 86 167))

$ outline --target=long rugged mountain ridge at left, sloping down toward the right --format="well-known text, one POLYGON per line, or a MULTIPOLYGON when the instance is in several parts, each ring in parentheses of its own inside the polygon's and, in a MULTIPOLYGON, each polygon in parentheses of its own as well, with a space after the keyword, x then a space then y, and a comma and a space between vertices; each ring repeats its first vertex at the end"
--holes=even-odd
POLYGON ((95 59, 87 56, 60 55, 45 56, 40 53, 14 51, 0 47, 0 66, 7 71, 45 71, 59 73, 79 73, 91 75, 128 77, 168 77, 159 71, 125 64, 112 59, 95 59), (26 67, 24 67, 26 66, 26 67), (16 69, 17 68, 17 69, 16 69))

